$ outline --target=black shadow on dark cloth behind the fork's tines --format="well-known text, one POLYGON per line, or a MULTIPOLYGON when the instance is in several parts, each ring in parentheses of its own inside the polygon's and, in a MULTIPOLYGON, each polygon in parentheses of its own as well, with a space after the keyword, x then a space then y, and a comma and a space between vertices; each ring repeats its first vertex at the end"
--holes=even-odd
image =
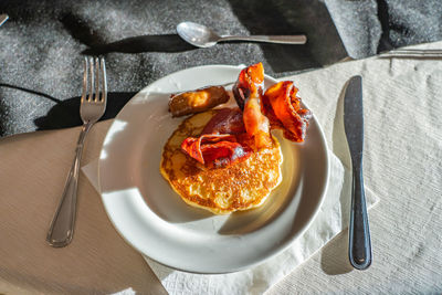
MULTIPOLYGON (((112 92, 107 94, 106 112, 99 120, 114 118, 124 105, 135 96, 135 92, 112 92)), ((54 105, 45 116, 34 120, 38 130, 80 126, 80 97, 72 97, 54 105)))

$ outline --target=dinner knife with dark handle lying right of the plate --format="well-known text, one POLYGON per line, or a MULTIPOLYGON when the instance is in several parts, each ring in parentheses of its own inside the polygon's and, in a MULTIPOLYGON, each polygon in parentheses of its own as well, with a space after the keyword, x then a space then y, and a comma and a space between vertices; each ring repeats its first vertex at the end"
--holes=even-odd
POLYGON ((344 127, 352 166, 348 257, 355 268, 366 270, 371 264, 372 253, 362 177, 364 108, 361 76, 354 76, 348 83, 344 97, 344 127))

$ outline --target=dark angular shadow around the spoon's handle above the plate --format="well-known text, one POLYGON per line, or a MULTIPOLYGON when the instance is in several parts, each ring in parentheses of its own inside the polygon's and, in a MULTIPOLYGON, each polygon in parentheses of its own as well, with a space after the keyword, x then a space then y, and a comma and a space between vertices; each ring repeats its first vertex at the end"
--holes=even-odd
POLYGON ((229 0, 233 13, 251 34, 306 34, 304 45, 261 44, 265 60, 276 73, 333 64, 347 52, 322 1, 229 0))

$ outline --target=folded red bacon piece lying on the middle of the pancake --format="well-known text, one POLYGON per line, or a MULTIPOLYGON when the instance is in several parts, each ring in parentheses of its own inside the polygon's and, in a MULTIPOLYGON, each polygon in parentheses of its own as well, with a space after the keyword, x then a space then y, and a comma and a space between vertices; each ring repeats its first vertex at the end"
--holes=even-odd
POLYGON ((243 161, 251 156, 252 149, 238 143, 234 135, 207 134, 188 137, 181 149, 208 168, 222 168, 243 161))

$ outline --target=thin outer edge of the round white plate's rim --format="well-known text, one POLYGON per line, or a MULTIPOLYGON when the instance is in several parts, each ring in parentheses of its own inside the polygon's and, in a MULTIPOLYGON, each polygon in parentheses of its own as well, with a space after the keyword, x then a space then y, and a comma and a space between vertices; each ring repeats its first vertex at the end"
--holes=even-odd
MULTIPOLYGON (((113 224, 113 226, 114 226, 114 229, 116 230, 116 232, 123 238, 123 240, 124 240, 127 244, 129 244, 134 250, 136 250, 138 253, 140 253, 140 254, 144 255, 145 257, 148 257, 149 260, 152 260, 152 261, 155 261, 156 263, 158 263, 158 264, 160 264, 160 265, 170 267, 170 268, 172 268, 172 270, 183 271, 183 272, 193 273, 193 274, 228 274, 228 273, 234 273, 234 272, 239 272, 239 271, 252 268, 252 267, 254 267, 254 266, 256 266, 256 265, 260 265, 260 264, 262 264, 262 263, 269 261, 270 259, 272 259, 272 257, 274 257, 274 256, 281 254, 282 252, 286 251, 298 238, 301 238, 301 236, 308 230, 308 228, 311 228, 312 223, 314 222, 314 220, 316 220, 316 217, 317 217, 317 214, 319 213, 320 207, 322 207, 323 203, 324 203, 325 196, 326 196, 326 192, 327 192, 327 189, 328 189, 328 185, 329 185, 329 180, 330 180, 330 179, 329 179, 329 173, 330 173, 330 162, 329 162, 329 161, 330 161, 330 159, 329 159, 329 155, 328 155, 328 152, 329 152, 329 150, 328 150, 328 145, 327 145, 326 137, 325 137, 325 135, 324 135, 323 127, 320 126, 320 124, 319 124, 319 122, 317 120, 315 114, 313 113, 313 118, 314 118, 314 120, 315 120, 315 123, 316 123, 316 125, 317 125, 318 131, 319 131, 320 141, 323 143, 324 148, 325 148, 325 152, 324 152, 325 165, 326 165, 326 169, 325 169, 325 171, 324 171, 324 172, 325 172, 325 181, 324 181, 324 186, 323 186, 323 188, 322 188, 322 190, 320 190, 319 202, 316 203, 316 207, 314 208, 314 213, 311 215, 311 218, 309 218, 308 221, 304 224, 304 226, 303 226, 296 234, 293 234, 293 235, 291 235, 288 239, 286 239, 286 241, 285 241, 284 243, 282 243, 280 246, 275 247, 275 249, 272 251, 272 253, 271 253, 270 255, 267 255, 267 256, 265 256, 265 257, 263 257, 263 259, 261 259, 261 260, 257 260, 257 261, 255 261, 255 262, 253 262, 253 263, 243 265, 243 266, 241 266, 241 267, 232 267, 230 271, 221 271, 221 272, 217 272, 217 271, 208 272, 208 271, 204 271, 204 272, 201 272, 201 271, 197 271, 196 268, 178 267, 178 266, 175 266, 175 265, 170 265, 170 264, 160 262, 160 261, 158 261, 158 260, 156 260, 156 259, 152 259, 152 257, 149 256, 147 253, 144 253, 139 247, 137 247, 131 241, 129 241, 129 240, 124 235, 123 231, 122 231, 122 230, 117 226, 117 224, 115 223, 115 221, 114 221, 114 219, 113 219, 113 217, 112 217, 112 214, 110 214, 110 212, 109 212, 110 208, 107 207, 106 201, 104 200, 103 194, 102 194, 102 177, 101 177, 101 170, 102 170, 102 169, 101 169, 101 162, 102 162, 102 161, 101 161, 101 158, 102 158, 102 156, 103 156, 103 152, 105 152, 104 146, 105 146, 105 143, 108 141, 107 139, 108 139, 108 136, 109 136, 109 131, 113 129, 113 127, 115 127, 116 120, 118 119, 118 116, 119 116, 126 108, 128 108, 128 105, 130 105, 130 103, 134 101, 134 98, 136 98, 139 94, 141 94, 141 93, 147 93, 147 89, 148 89, 149 87, 151 87, 152 84, 156 84, 156 83, 160 83, 160 82, 162 82, 162 81, 166 81, 166 80, 170 78, 170 76, 172 76, 172 75, 180 74, 180 73, 187 72, 187 71, 198 71, 198 70, 208 69, 208 67, 214 67, 214 70, 217 70, 217 67, 218 67, 218 69, 225 69, 225 70, 241 70, 241 69, 243 69, 243 67, 245 67, 245 66, 246 66, 246 65, 244 65, 244 64, 240 64, 240 65, 228 65, 228 64, 207 64, 207 65, 199 65, 199 66, 192 66, 192 67, 182 69, 182 70, 176 71, 176 72, 172 72, 172 73, 170 73, 170 74, 168 74, 168 75, 165 75, 165 76, 162 76, 162 77, 160 77, 160 78, 158 78, 158 80, 155 80, 154 82, 149 83, 147 86, 145 86, 145 87, 143 87, 140 91, 138 91, 138 92, 124 105, 124 107, 123 107, 123 108, 118 112, 118 114, 115 116, 114 122, 110 124, 110 126, 108 127, 108 129, 107 129, 107 131, 106 131, 106 136, 104 137, 103 144, 102 144, 102 147, 101 147, 101 151, 99 151, 99 156, 98 156, 98 164, 97 164, 97 186, 98 186, 98 190, 99 190, 99 191, 98 191, 98 194, 99 194, 99 198, 101 198, 101 200, 102 200, 103 207, 104 207, 104 209, 105 209, 105 211, 106 211, 107 218, 108 218, 108 220, 110 221, 110 223, 113 224)), ((280 81, 281 81, 281 78, 277 80, 277 78, 274 78, 274 77, 272 77, 272 76, 270 76, 270 75, 267 75, 267 74, 265 74, 265 77, 269 78, 269 80, 271 80, 271 81, 274 81, 274 82, 280 82, 280 81)), ((305 106, 307 106, 307 104, 306 104, 304 101, 303 101, 303 104, 304 104, 305 106)), ((198 267, 197 267, 197 268, 198 268, 198 267)))

